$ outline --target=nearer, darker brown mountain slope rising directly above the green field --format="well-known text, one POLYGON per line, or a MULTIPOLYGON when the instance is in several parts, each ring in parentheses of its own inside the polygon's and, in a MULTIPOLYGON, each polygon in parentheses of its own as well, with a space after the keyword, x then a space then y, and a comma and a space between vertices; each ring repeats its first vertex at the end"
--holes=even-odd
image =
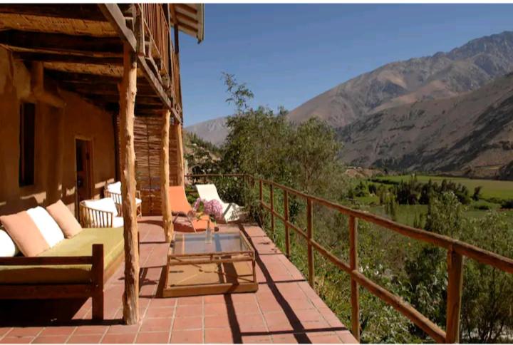
POLYGON ((378 111, 339 134, 355 165, 497 175, 513 160, 513 73, 461 96, 378 111))

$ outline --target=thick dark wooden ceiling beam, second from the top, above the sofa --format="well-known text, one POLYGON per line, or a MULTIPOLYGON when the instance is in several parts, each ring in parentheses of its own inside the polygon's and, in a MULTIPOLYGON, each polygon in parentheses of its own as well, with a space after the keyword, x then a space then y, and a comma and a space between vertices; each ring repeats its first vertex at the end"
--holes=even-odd
POLYGON ((48 32, 14 29, 0 31, 0 44, 96 57, 119 57, 123 52, 123 45, 118 37, 50 34, 48 32))

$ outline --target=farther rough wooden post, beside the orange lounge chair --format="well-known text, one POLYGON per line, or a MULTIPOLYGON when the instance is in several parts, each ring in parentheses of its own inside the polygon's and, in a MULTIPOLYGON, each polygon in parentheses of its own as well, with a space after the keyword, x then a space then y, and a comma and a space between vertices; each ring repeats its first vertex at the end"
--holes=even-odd
POLYGON ((160 135, 160 199, 162 202, 162 225, 166 242, 171 242, 173 225, 169 200, 168 188, 170 185, 169 172, 169 130, 170 130, 169 109, 162 110, 162 133, 160 135))

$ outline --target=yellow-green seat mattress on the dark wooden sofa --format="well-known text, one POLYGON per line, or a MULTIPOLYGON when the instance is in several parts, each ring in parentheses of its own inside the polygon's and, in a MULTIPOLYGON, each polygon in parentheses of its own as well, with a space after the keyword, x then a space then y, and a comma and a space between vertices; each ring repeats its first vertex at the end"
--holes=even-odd
MULTIPOLYGON (((103 244, 104 270, 123 254, 123 227, 83 229, 38 257, 81 257, 92 254, 93 244, 103 244)), ((0 284, 73 284, 90 282, 90 265, 0 266, 0 284)))

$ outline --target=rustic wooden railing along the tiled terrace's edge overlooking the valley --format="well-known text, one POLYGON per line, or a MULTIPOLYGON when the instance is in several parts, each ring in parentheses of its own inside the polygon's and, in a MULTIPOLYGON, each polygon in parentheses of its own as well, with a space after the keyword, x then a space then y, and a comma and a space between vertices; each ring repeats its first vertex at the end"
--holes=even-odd
POLYGON ((407 225, 402 225, 392 220, 388 220, 377 215, 372 215, 360 210, 353 210, 349 207, 338 205, 321 197, 308 195, 290 187, 280 185, 279 183, 269 180, 263 180, 251 175, 230 174, 230 175, 187 175, 187 177, 229 177, 237 176, 244 177, 250 185, 259 184, 259 199, 260 205, 263 209, 271 213, 271 233, 274 232, 275 217, 279 218, 285 225, 285 252, 290 256, 290 229, 301 235, 306 239, 308 246, 308 272, 309 284, 314 287, 314 250, 321 254, 339 269, 343 270, 351 277, 351 331, 353 336, 360 340, 360 304, 358 296, 358 287, 364 287, 376 297, 389 304, 391 307, 399 311, 404 316, 408 317, 420 329, 423 329, 429 336, 439 343, 457 343, 460 336, 460 310, 461 310, 461 297, 462 297, 462 284, 463 284, 463 257, 475 259, 477 262, 487 264, 489 266, 500 269, 504 272, 513 273, 513 259, 504 257, 502 255, 489 252, 485 249, 475 247, 472 244, 455 240, 451 237, 438 235, 433 232, 416 229, 407 225), (269 186, 269 205, 264 202, 264 186, 269 186), (274 189, 277 188, 283 192, 284 195, 284 214, 280 215, 274 209, 274 189), (306 230, 299 229, 296 225, 289 222, 289 196, 294 195, 306 200, 306 230), (329 252, 321 244, 314 240, 314 226, 313 226, 313 206, 323 205, 332 210, 348 216, 349 228, 349 264, 343 262, 336 255, 329 252), (413 308, 408 302, 405 302, 401 297, 389 292, 380 285, 373 282, 364 276, 358 269, 358 219, 366 222, 371 222, 387 230, 398 232, 400 235, 410 237, 414 240, 433 244, 447 250, 447 324, 445 331, 433 323, 427 317, 420 313, 417 309, 413 308))

